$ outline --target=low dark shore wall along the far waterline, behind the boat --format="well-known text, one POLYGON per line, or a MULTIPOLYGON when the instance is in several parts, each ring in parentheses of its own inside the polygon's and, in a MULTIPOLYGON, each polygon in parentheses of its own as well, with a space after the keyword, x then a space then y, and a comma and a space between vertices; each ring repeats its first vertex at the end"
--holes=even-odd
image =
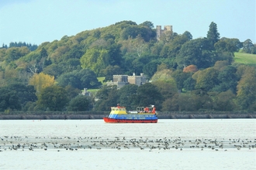
MULTIPOLYGON (((89 120, 102 119, 108 114, 5 114, 0 120, 89 120)), ((256 114, 158 114, 159 119, 235 119, 256 118, 256 114)))

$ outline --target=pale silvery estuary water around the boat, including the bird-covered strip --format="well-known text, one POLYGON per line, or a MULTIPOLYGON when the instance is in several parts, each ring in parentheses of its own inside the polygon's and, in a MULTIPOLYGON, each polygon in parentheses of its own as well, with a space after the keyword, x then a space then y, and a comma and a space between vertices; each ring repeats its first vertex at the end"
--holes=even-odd
POLYGON ((256 169, 255 119, 0 121, 0 169, 256 169))

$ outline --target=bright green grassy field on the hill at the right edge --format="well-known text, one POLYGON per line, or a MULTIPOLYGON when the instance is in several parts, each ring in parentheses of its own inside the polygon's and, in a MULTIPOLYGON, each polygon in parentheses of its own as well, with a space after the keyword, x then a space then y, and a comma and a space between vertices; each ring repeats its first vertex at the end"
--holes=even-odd
POLYGON ((256 54, 234 53, 235 63, 244 63, 256 66, 256 54))

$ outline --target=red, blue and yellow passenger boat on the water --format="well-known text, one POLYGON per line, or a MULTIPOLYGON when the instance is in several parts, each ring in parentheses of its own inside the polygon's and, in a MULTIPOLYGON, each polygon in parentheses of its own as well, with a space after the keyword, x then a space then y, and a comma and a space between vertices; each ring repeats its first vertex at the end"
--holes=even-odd
POLYGON ((117 104, 111 107, 109 117, 103 117, 106 123, 157 123, 156 107, 137 107, 137 110, 127 111, 126 107, 117 104))

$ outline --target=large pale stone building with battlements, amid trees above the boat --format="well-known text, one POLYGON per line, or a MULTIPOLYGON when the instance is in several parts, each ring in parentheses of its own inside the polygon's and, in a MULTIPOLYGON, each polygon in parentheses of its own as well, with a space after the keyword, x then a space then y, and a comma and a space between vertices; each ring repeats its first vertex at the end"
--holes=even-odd
POLYGON ((130 83, 140 86, 146 82, 147 82, 147 77, 144 76, 144 73, 140 73, 140 76, 136 76, 135 73, 133 73, 133 76, 113 75, 113 80, 110 82, 107 82, 107 85, 108 86, 116 85, 117 88, 119 89, 130 83))

